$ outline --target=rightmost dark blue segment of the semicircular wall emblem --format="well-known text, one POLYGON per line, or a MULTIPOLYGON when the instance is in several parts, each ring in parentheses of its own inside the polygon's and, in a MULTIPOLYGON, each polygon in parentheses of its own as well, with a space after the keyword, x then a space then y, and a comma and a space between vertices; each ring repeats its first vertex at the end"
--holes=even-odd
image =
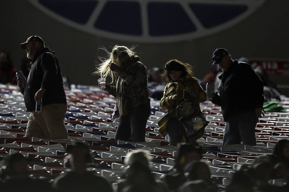
POLYGON ((248 9, 246 5, 213 5, 197 3, 190 4, 190 7, 205 28, 211 28, 223 24, 248 9))

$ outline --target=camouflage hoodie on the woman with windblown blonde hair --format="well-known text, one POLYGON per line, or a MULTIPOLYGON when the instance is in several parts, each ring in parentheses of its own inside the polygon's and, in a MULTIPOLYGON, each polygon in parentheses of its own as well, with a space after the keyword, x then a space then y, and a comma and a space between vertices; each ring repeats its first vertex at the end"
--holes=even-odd
POLYGON ((127 67, 117 71, 116 87, 110 86, 108 93, 117 99, 120 118, 131 108, 150 102, 147 68, 138 56, 131 56, 127 67))

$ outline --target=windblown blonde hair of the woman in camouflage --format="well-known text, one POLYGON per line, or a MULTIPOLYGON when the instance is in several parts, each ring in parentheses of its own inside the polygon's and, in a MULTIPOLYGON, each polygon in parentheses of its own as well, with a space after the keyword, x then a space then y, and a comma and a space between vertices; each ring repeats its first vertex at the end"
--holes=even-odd
POLYGON ((115 74, 110 70, 109 63, 112 62, 118 66, 124 65, 131 56, 136 55, 136 52, 133 51, 134 48, 135 46, 128 48, 126 46, 115 45, 112 52, 109 52, 105 47, 102 47, 101 49, 104 50, 108 56, 106 58, 99 57, 101 62, 96 67, 97 71, 95 71, 93 74, 99 74, 101 78, 106 78, 108 75, 110 75, 113 81, 115 74))

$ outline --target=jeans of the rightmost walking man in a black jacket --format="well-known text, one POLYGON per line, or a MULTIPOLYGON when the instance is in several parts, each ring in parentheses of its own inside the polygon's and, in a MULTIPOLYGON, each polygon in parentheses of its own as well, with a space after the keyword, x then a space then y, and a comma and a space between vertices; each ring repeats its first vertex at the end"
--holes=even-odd
POLYGON ((256 145, 255 127, 258 118, 255 110, 229 117, 225 124, 223 145, 256 145))

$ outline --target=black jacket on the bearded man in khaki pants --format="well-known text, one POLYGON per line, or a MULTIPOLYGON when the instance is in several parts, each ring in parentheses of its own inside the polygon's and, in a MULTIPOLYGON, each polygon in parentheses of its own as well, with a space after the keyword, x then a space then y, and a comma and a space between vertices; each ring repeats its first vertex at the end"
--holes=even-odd
POLYGON ((40 88, 46 89, 42 106, 53 103, 65 103, 62 74, 55 53, 48 47, 36 52, 27 83, 22 94, 28 111, 35 110, 34 96, 40 88))

